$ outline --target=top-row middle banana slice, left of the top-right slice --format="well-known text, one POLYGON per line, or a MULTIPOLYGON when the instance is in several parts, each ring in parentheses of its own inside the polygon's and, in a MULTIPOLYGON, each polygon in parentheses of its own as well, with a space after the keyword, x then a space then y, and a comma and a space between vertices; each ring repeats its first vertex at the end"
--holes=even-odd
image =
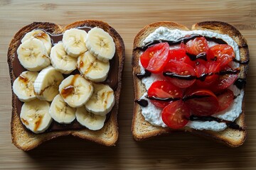
POLYGON ((78 28, 71 28, 66 30, 63 34, 63 47, 68 55, 72 57, 78 57, 82 53, 87 51, 85 46, 85 38, 87 33, 85 30, 80 30, 78 28))

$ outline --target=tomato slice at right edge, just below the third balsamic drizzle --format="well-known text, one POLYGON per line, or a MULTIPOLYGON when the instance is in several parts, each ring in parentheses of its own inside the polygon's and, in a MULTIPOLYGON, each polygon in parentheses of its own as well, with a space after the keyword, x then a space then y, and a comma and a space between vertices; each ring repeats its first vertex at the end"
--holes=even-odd
MULTIPOLYGON (((223 71, 231 69, 229 66, 225 66, 223 71)), ((223 89, 227 89, 231 84, 235 82, 235 80, 238 79, 238 74, 224 74, 220 75, 215 81, 215 83, 211 86, 211 89, 213 91, 221 91, 223 89)))

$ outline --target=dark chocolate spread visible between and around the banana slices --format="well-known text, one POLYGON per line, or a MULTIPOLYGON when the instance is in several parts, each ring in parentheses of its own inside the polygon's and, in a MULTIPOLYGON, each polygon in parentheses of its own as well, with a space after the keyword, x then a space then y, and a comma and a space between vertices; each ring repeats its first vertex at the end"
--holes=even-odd
MULTIPOLYGON (((91 28, 87 27, 87 26, 82 26, 82 27, 78 27, 78 29, 85 30, 88 33, 88 31, 91 28)), ((43 31, 45 31, 47 33, 46 30, 43 30, 43 31)), ((60 42, 63 39, 62 33, 60 33, 60 34, 48 33, 48 35, 50 35, 52 45, 55 45, 56 43, 60 42)), ((21 40, 18 42, 17 49, 18 49, 19 45, 21 45, 21 40)), ((26 69, 21 65, 21 63, 18 60, 17 49, 15 51, 15 57, 14 57, 14 62, 13 62, 13 68, 14 68, 13 71, 14 71, 15 77, 18 77, 21 74, 21 72, 26 71, 26 69)), ((114 54, 114 57, 112 58, 112 60, 110 60, 110 71, 107 75, 107 79, 104 82, 102 82, 102 84, 109 85, 113 89, 113 91, 117 90, 118 67, 119 67, 118 63, 119 63, 119 57, 117 56, 117 52, 116 52, 114 54)), ((75 74, 80 74, 80 72, 78 71, 78 69, 75 69, 70 74, 75 75, 75 74)), ((66 78, 70 74, 63 74, 63 77, 66 78)), ((23 105, 23 102, 21 102, 20 100, 18 100, 18 98, 16 98, 16 109, 17 109, 18 115, 21 114, 22 105, 23 105)), ((112 111, 110 111, 110 113, 107 113, 107 118, 106 118, 105 122, 110 119, 110 114, 112 112, 113 112, 113 114, 116 114, 116 112, 117 112, 116 107, 113 107, 112 111)), ((25 129, 28 130, 26 127, 25 127, 25 129)), ((53 122, 51 123, 48 130, 46 130, 46 132, 59 131, 59 130, 79 130, 79 129, 85 129, 85 127, 80 125, 80 123, 78 123, 77 120, 74 120, 70 124, 60 124, 60 123, 55 122, 55 120, 53 120, 53 122)), ((30 130, 28 130, 28 131, 30 131, 30 130)))

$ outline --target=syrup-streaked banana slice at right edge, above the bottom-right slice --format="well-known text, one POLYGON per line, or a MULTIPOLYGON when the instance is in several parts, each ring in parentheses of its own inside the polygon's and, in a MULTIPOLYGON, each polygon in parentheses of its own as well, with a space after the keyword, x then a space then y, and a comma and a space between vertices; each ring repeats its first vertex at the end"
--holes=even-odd
POLYGON ((114 91, 105 84, 93 84, 93 94, 85 108, 95 115, 107 115, 114 106, 114 91))

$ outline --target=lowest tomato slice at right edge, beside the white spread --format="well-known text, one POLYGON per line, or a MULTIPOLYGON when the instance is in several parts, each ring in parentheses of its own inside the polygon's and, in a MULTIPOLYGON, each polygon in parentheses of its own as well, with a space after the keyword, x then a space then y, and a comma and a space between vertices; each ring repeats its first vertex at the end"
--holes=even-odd
POLYGON ((219 111, 225 110, 226 108, 228 108, 228 106, 230 106, 230 104, 234 100, 234 93, 230 89, 225 89, 225 91, 223 91, 223 93, 221 93, 217 97, 220 105, 218 109, 218 112, 219 112, 219 111))

